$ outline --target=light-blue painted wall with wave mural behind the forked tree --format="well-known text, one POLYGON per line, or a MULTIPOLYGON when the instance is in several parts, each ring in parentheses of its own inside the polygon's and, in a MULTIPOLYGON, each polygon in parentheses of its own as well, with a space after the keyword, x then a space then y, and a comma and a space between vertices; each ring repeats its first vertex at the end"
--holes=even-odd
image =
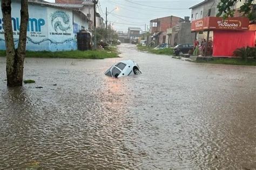
MULTIPOLYGON (((16 47, 21 21, 20 10, 21 2, 12 2, 12 29, 16 47)), ((76 50, 77 32, 87 30, 88 21, 82 12, 76 10, 30 2, 26 49, 29 51, 76 50)), ((5 49, 2 11, 0 12, 0 49, 5 49)))

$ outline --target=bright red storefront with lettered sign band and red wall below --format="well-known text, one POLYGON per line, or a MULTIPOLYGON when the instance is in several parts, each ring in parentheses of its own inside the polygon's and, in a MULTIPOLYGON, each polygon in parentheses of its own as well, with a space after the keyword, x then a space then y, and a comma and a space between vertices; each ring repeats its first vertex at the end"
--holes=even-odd
MULTIPOLYGON (((245 17, 223 18, 206 17, 191 23, 192 32, 213 31, 213 56, 231 57, 237 48, 254 47, 255 31, 249 30, 249 19, 245 17)), ((206 45, 207 46, 207 45, 206 45)))

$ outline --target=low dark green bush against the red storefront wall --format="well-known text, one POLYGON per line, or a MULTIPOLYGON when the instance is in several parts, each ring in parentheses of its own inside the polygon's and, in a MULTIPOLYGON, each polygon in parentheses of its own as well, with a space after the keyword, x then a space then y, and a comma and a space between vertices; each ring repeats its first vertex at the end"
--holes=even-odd
POLYGON ((233 52, 234 56, 240 56, 243 60, 247 60, 247 58, 256 59, 256 48, 255 47, 242 47, 237 48, 233 52))

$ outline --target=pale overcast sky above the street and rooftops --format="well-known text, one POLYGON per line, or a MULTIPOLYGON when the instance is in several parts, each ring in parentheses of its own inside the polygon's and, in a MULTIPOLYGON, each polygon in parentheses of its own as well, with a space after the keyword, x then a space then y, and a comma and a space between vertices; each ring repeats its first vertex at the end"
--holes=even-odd
MULTIPOLYGON (((49 0, 53 1, 53 0, 49 0)), ((149 25, 151 19, 177 16, 191 16, 191 6, 203 0, 99 0, 98 12, 105 19, 105 11, 110 12, 107 20, 113 23, 117 31, 127 32, 128 27, 140 27, 145 30, 145 24, 149 25)), ((109 24, 108 22, 108 24, 109 24)))

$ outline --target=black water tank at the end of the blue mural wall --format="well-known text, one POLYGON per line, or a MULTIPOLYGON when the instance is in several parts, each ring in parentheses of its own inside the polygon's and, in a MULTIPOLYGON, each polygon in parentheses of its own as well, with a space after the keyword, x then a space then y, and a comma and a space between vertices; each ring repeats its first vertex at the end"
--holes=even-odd
POLYGON ((91 49, 91 35, 87 31, 80 31, 77 33, 77 48, 80 51, 91 49))

